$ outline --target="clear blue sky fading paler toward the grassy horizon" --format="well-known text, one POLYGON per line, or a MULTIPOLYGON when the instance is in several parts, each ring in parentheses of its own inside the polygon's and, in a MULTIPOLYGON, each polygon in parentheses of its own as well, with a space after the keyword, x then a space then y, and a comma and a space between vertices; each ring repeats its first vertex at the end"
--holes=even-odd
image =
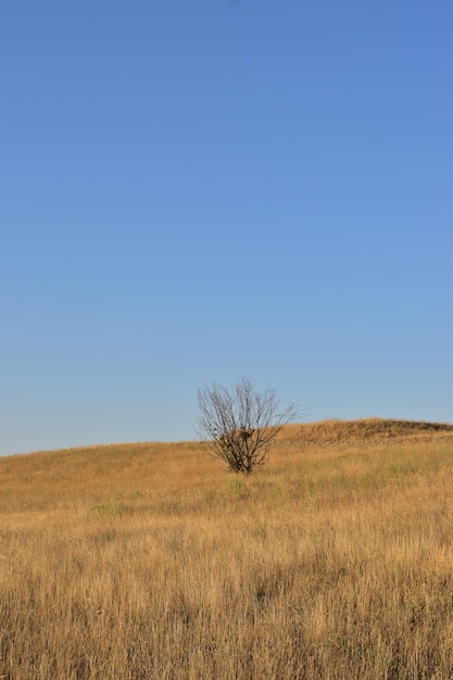
POLYGON ((2 0, 0 454, 452 421, 451 0, 2 0))

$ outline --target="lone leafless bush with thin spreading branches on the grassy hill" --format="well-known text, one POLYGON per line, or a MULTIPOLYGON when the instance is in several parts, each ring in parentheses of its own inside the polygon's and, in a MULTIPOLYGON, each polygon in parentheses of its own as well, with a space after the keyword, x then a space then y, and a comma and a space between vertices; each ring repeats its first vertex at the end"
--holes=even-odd
POLYGON ((273 439, 299 415, 294 404, 280 408, 275 390, 259 391, 250 378, 230 390, 218 382, 199 390, 198 405, 200 439, 228 469, 246 475, 266 463, 273 439))

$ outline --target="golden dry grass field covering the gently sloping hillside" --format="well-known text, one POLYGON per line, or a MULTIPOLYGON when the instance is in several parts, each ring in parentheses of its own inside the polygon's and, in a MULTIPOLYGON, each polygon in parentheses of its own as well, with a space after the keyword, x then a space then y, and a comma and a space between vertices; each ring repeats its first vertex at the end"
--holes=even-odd
POLYGON ((453 678, 453 426, 0 458, 0 678, 453 678))

